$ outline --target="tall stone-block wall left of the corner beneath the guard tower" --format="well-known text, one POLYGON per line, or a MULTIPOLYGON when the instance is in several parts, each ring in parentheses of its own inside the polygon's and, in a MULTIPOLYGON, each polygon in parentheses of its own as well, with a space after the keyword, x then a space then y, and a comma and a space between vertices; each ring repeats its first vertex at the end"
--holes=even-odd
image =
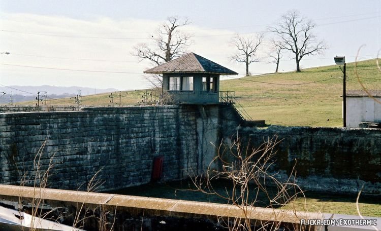
POLYGON ((98 170, 104 181, 98 190, 147 183, 157 156, 164 157, 164 180, 182 179, 214 156, 209 143, 216 142, 217 107, 209 106, 207 115, 202 106, 83 109, 0 114, 1 182, 17 185, 23 174, 33 176, 45 140, 42 169, 54 155, 48 186, 63 189, 86 185, 98 170))

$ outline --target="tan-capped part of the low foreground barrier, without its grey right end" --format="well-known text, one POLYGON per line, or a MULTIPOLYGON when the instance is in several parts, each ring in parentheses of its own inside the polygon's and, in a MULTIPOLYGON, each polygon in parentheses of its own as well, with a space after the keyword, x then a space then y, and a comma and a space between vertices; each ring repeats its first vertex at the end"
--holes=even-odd
MULTIPOLYGON (((143 222, 144 219, 151 219, 150 225, 146 227, 148 230, 155 229, 155 224, 152 222, 155 219, 160 220, 162 225, 164 223, 170 225, 169 221, 175 224, 174 220, 176 219, 182 220, 181 223, 185 222, 190 225, 195 225, 194 222, 196 222, 199 225, 198 228, 203 228, 203 225, 210 226, 214 224, 217 226, 214 230, 223 230, 223 227, 218 229, 218 217, 247 217, 252 224, 270 222, 271 224, 279 224, 281 227, 299 227, 301 219, 322 219, 321 214, 292 210, 259 207, 246 207, 242 209, 234 205, 205 202, 0 185, 0 205, 12 206, 18 209, 20 206, 19 202, 23 202, 23 207, 27 208, 31 206, 30 204, 28 205, 27 201, 33 198, 43 201, 45 209, 65 208, 67 214, 75 214, 75 209, 78 207, 83 207, 83 210, 86 211, 94 210, 98 206, 107 206, 108 211, 114 211, 116 208, 114 213, 114 217, 117 220, 114 226, 115 230, 122 230, 121 227, 125 228, 128 222, 136 222, 131 217, 135 217, 135 219, 138 217, 137 219, 141 219, 140 222, 143 222)), ((59 215, 56 214, 55 216, 59 215)), ((66 219, 61 222, 70 224, 73 220, 73 218, 70 219, 68 217, 66 219)), ((307 225, 306 227, 317 230, 317 226, 314 225, 307 225)))

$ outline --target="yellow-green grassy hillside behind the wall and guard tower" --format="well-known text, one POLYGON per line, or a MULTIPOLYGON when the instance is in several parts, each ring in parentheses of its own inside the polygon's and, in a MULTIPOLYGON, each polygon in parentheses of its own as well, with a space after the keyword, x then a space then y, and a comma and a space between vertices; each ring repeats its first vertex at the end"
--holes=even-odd
MULTIPOLYGON (((361 89, 354 72, 354 63, 346 67, 347 88, 361 89)), ((381 89, 381 72, 375 60, 358 63, 360 81, 368 89, 381 89)), ((221 91, 235 91, 237 100, 254 120, 284 126, 342 126, 342 72, 339 66, 304 69, 288 72, 249 76, 220 82, 221 91)), ((145 92, 145 91, 144 91, 145 92)), ((114 103, 119 92, 113 93, 114 103)), ((137 104, 142 91, 121 92, 121 104, 137 104)), ((110 105, 110 94, 82 97, 83 105, 110 105)), ((75 99, 49 99, 49 105, 74 105, 75 99)), ((35 104, 23 102, 19 104, 35 104)))

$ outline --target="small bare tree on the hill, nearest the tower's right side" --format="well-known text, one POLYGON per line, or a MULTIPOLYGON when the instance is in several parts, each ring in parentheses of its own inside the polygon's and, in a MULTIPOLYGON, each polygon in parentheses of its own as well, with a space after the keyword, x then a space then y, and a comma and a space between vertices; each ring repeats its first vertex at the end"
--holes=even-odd
POLYGON ((256 53, 258 47, 261 45, 263 41, 263 36, 263 33, 258 34, 257 37, 241 36, 239 34, 236 34, 232 38, 231 43, 238 51, 232 57, 230 57, 230 59, 246 64, 246 76, 249 75, 250 63, 259 61, 259 59, 256 58, 256 53))

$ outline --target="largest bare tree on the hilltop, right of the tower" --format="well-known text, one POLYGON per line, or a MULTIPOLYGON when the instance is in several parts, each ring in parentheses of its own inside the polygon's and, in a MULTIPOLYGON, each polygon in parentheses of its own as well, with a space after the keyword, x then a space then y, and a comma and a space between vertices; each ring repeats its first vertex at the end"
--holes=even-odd
POLYGON ((281 48, 294 53, 297 72, 300 72, 300 60, 304 56, 321 54, 326 49, 325 42, 318 41, 312 33, 315 26, 312 21, 300 16, 298 11, 289 11, 276 26, 269 27, 271 32, 277 34, 281 48))

